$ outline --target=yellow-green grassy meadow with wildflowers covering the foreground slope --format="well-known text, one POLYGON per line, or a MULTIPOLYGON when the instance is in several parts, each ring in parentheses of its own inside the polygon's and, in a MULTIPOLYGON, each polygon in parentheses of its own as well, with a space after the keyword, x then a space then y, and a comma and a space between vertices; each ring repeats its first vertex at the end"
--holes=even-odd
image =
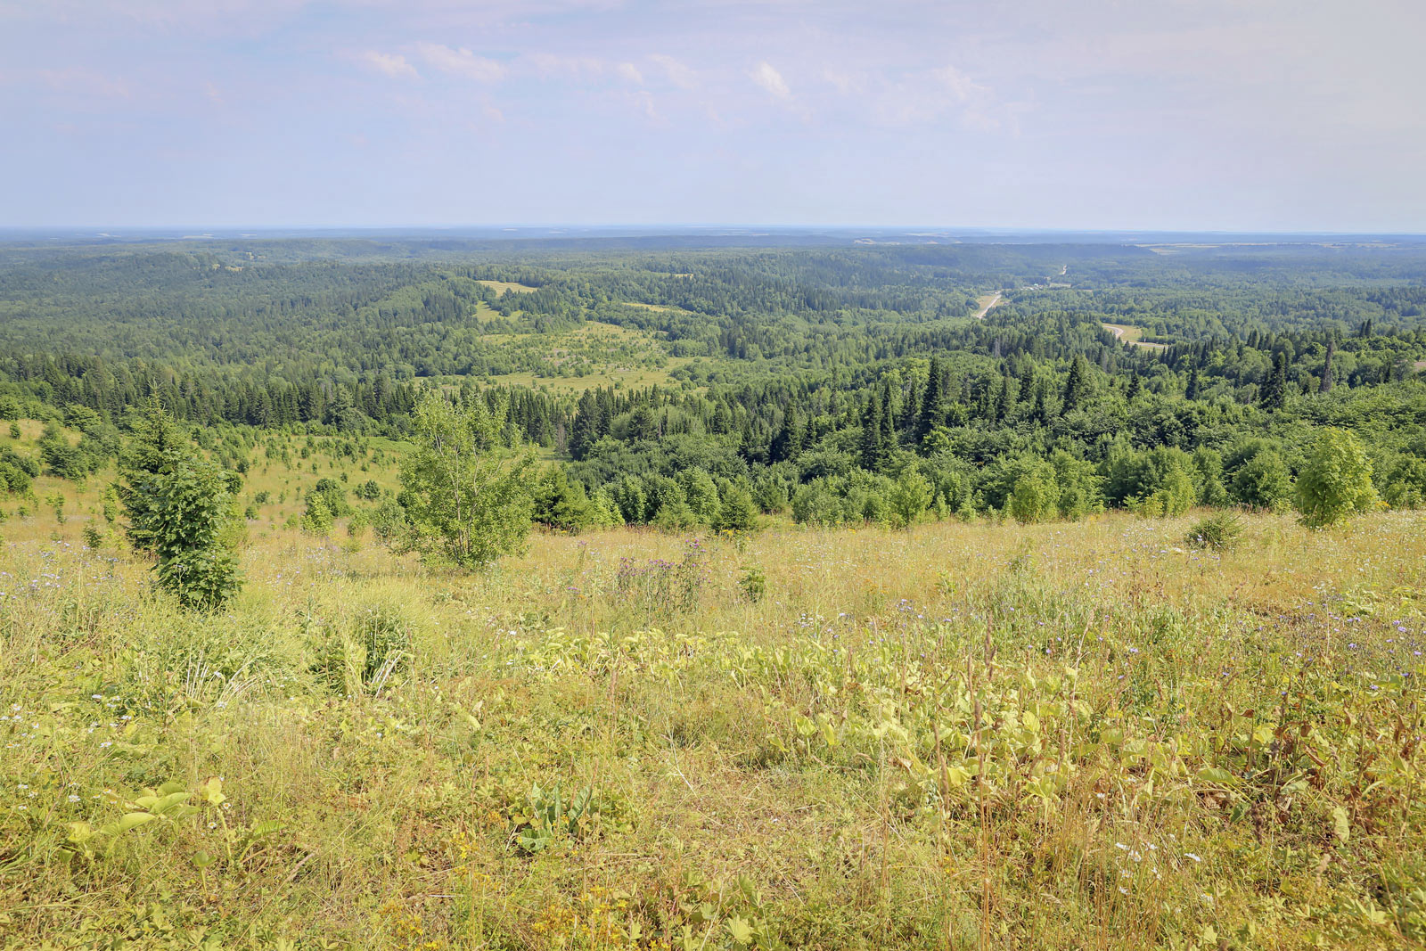
POLYGON ((287 495, 215 616, 101 479, 0 502, 0 947, 1426 940, 1419 513, 536 535, 456 576, 285 528, 394 485, 375 442, 254 449, 244 498, 287 495))

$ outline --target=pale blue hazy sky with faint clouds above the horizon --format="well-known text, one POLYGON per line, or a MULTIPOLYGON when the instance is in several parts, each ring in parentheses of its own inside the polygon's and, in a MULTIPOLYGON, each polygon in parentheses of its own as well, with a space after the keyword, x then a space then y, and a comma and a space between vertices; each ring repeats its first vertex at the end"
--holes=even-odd
POLYGON ((1423 0, 0 0, 0 227, 1426 231, 1423 0))

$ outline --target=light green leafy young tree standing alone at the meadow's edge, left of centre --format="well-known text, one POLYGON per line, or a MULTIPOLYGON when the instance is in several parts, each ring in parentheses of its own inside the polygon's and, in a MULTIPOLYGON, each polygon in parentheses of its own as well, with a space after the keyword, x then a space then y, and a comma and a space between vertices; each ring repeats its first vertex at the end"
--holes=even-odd
POLYGON ((405 545, 432 563, 483 567, 519 550, 530 530, 533 456, 506 443, 503 396, 453 402, 425 395, 415 449, 401 463, 405 545))

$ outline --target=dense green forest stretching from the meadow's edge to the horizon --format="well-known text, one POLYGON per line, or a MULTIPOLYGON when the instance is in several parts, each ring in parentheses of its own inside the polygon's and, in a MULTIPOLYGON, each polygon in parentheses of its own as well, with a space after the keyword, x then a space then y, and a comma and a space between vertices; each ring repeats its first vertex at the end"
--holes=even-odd
POLYGON ((1423 359, 1419 242, 14 241, 0 418, 84 436, 0 480, 83 479, 151 398, 245 446, 443 386, 566 529, 1272 509, 1323 426, 1416 506, 1423 359))

